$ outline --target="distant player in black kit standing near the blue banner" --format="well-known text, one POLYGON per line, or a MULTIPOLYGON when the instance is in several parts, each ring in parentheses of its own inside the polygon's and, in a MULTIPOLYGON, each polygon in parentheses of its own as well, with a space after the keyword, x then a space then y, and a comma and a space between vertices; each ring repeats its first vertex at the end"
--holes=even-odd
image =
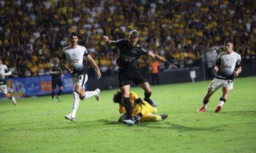
POLYGON ((53 66, 50 69, 50 74, 52 75, 52 101, 54 101, 54 94, 55 94, 57 85, 59 86, 60 91, 58 92, 58 96, 56 96, 56 99, 60 101, 60 94, 63 91, 61 76, 64 76, 64 75, 60 67, 60 60, 58 59, 58 57, 55 57, 53 59, 53 66))

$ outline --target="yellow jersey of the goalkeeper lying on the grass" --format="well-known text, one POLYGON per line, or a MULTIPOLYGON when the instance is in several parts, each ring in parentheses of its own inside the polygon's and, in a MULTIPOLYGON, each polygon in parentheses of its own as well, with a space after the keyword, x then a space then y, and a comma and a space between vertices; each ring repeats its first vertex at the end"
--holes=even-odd
MULTIPOLYGON (((151 106, 147 101, 144 101, 141 99, 140 103, 135 103, 135 100, 138 99, 139 96, 135 92, 129 93, 129 99, 132 104, 132 116, 138 115, 138 113, 142 113, 142 115, 145 115, 146 113, 152 113, 154 110, 154 107, 151 106)), ((125 107, 124 105, 119 105, 119 112, 124 113, 125 107)))

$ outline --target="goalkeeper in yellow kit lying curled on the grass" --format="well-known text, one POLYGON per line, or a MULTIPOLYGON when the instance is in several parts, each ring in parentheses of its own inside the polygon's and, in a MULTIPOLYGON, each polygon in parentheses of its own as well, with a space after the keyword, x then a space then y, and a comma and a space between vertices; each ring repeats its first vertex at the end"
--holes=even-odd
MULTIPOLYGON (((147 101, 142 100, 135 92, 129 93, 129 99, 132 105, 132 117, 135 123, 147 122, 147 121, 160 121, 168 117, 167 114, 156 115, 157 108, 151 106, 147 101)), ((119 112, 122 114, 120 116, 119 122, 122 122, 126 118, 124 100, 122 97, 122 92, 118 91, 113 96, 114 103, 119 104, 119 112)))

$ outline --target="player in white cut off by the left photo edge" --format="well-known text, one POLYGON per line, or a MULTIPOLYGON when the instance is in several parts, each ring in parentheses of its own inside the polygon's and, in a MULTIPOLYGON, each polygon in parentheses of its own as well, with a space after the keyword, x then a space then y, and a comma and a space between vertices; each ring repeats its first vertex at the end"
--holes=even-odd
POLYGON ((4 76, 12 75, 12 72, 7 68, 6 65, 3 64, 2 59, 0 59, 0 92, 3 92, 5 98, 9 98, 12 100, 13 105, 17 105, 16 99, 12 96, 12 94, 7 92, 7 85, 4 76))

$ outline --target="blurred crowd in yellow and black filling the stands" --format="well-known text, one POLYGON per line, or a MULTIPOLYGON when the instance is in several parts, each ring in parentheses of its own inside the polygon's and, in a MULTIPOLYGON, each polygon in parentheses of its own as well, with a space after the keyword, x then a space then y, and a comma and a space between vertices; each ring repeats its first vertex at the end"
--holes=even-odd
MULTIPOLYGON (((141 45, 179 68, 197 66, 205 48, 226 38, 243 61, 255 62, 255 8, 253 0, 0 0, 0 57, 15 77, 47 75, 77 31, 79 44, 111 75, 118 50, 102 36, 118 40, 136 29, 141 45)), ((140 58, 143 71, 148 62, 140 58)))

